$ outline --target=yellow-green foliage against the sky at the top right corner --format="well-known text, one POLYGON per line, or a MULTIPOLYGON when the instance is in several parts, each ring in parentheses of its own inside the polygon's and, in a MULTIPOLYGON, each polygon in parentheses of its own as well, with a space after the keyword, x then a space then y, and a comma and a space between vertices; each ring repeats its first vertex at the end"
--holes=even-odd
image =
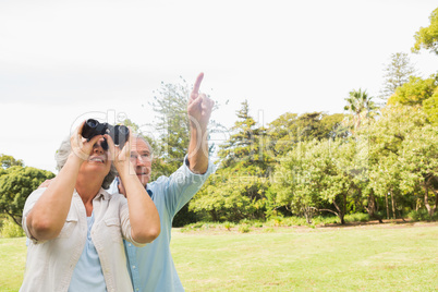
POLYGON ((413 52, 418 52, 424 48, 438 54, 438 8, 431 12, 429 20, 429 26, 421 27, 415 33, 415 44, 411 49, 413 52))

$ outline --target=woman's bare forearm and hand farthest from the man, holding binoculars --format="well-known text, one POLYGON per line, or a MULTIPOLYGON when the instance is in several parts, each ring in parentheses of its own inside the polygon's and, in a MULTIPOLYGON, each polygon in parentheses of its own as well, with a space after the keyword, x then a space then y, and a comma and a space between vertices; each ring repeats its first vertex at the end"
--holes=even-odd
POLYGON ((38 241, 52 240, 61 232, 70 210, 73 191, 81 165, 88 158, 93 145, 101 136, 83 141, 82 126, 70 138, 72 151, 54 180, 35 203, 26 217, 26 227, 38 241))

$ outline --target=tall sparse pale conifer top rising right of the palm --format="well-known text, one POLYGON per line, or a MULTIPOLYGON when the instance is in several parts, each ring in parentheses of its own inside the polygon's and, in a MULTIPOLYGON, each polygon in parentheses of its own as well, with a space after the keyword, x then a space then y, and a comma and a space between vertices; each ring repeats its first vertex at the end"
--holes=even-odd
POLYGON ((391 54, 391 62, 385 68, 385 82, 381 89, 381 98, 387 100, 396 89, 409 82, 411 75, 415 74, 415 68, 411 64, 405 52, 391 54))

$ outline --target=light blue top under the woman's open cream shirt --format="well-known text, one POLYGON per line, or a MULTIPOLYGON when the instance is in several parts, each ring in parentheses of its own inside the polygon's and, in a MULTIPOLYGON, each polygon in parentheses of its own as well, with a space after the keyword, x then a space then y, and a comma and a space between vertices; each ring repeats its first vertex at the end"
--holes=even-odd
POLYGON ((69 292, 107 291, 99 255, 92 241, 92 227, 95 222, 94 212, 87 217, 87 241, 81 254, 70 282, 69 292))

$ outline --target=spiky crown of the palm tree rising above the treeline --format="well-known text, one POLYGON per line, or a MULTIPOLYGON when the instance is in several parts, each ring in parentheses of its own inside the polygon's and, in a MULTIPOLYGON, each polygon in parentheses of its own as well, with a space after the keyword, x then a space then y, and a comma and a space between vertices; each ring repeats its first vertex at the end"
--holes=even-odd
POLYGON ((350 97, 345 98, 348 104, 343 109, 352 113, 354 129, 361 125, 364 118, 369 119, 375 115, 378 107, 372 99, 373 97, 368 97, 366 90, 362 92, 361 88, 350 92, 350 97))

